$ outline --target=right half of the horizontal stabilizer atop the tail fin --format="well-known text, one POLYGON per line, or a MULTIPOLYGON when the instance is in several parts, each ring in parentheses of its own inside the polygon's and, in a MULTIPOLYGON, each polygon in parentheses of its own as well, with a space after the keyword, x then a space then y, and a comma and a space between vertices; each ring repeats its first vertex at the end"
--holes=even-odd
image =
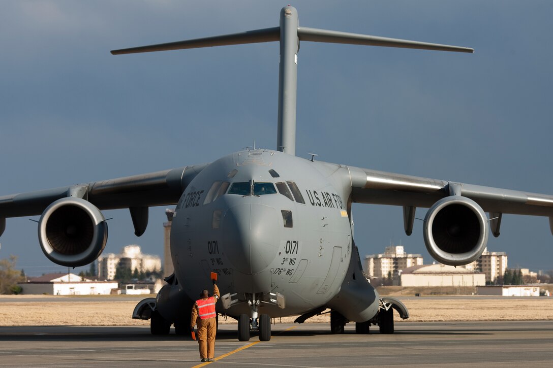
POLYGON ((300 41, 327 42, 366 46, 384 46, 389 48, 474 52, 474 49, 460 46, 440 45, 427 42, 401 40, 396 38, 369 36, 358 33, 338 32, 327 29, 298 27, 300 41))

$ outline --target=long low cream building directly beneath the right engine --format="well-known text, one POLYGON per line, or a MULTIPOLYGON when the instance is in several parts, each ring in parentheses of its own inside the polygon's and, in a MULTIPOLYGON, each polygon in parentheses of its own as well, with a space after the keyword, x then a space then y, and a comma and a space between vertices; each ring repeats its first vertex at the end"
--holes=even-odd
POLYGON ((465 267, 455 267, 437 263, 418 265, 401 271, 401 286, 477 286, 486 285, 486 275, 465 267))

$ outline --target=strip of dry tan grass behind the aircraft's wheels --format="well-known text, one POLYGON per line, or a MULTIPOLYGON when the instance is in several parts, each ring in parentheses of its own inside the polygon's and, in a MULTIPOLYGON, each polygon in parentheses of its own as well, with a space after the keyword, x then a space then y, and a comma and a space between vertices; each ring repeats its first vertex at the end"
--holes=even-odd
MULTIPOLYGON (((135 300, 117 297, 0 296, 0 326, 25 325, 148 325, 131 318, 135 300), (26 301, 26 299, 33 299, 26 301), (100 300, 99 300, 100 299, 100 300)), ((406 322, 463 320, 546 320, 553 319, 553 297, 488 298, 482 296, 401 297, 408 307, 406 322)), ((395 314, 396 320, 400 320, 395 314)), ((289 323, 294 317, 276 318, 289 323)), ((221 323, 225 323, 220 319, 221 323)), ((330 316, 313 317, 307 322, 329 323, 330 316)), ((229 318, 227 323, 235 323, 229 318)))

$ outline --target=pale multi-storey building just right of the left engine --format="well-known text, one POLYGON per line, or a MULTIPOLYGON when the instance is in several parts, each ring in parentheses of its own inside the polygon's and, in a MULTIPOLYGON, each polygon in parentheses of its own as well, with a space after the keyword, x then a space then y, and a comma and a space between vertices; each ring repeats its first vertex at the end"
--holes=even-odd
POLYGON ((118 266, 131 269, 131 272, 160 271, 161 259, 156 255, 143 254, 139 245, 127 245, 121 254, 108 253, 98 257, 98 278, 113 280, 118 266))

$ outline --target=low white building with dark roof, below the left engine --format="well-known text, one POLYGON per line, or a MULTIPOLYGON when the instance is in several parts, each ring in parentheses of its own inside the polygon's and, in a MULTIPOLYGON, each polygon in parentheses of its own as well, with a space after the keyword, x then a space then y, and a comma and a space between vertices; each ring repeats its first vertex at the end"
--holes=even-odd
POLYGON ((18 284, 22 294, 50 295, 109 295, 117 289, 116 281, 97 281, 75 274, 46 274, 30 277, 27 282, 18 284))

